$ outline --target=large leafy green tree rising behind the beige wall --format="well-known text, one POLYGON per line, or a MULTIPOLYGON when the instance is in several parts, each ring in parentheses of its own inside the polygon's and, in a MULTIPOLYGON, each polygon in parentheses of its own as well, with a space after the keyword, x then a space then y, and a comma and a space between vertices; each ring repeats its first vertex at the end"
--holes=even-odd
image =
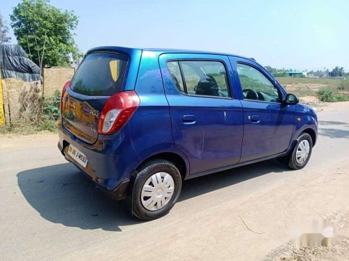
POLYGON ((73 38, 78 23, 73 11, 51 6, 49 0, 22 0, 10 19, 18 43, 41 69, 68 66, 81 56, 73 38))

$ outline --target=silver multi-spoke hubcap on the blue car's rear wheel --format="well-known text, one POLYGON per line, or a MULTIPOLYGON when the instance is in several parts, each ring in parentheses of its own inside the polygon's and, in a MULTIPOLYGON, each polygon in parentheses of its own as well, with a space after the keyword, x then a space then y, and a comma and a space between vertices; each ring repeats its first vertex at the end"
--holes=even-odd
POLYGON ((155 211, 165 207, 174 193, 174 181, 170 174, 158 172, 151 175, 142 187, 140 199, 143 207, 155 211))

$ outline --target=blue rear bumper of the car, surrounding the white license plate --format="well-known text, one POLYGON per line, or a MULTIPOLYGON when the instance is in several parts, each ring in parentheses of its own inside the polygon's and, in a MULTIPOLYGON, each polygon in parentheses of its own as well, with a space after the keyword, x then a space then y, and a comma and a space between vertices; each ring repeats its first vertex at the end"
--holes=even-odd
POLYGON ((115 150, 121 150, 120 145, 122 142, 118 143, 117 146, 113 146, 111 141, 103 141, 102 139, 94 145, 87 145, 63 128, 59 124, 58 148, 66 160, 73 163, 82 173, 87 175, 98 189, 101 189, 107 196, 114 200, 126 198, 131 173, 128 175, 125 168, 123 168, 125 163, 120 161, 120 152, 115 152, 115 150), (68 145, 70 144, 87 156, 88 163, 86 168, 68 155, 68 145))

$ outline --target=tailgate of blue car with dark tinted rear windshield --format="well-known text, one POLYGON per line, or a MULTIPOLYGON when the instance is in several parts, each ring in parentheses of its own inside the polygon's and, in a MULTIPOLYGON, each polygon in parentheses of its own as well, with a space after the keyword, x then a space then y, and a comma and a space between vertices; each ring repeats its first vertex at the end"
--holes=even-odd
POLYGON ((98 120, 107 99, 121 90, 127 58, 112 52, 88 54, 62 98, 62 123, 87 143, 98 138, 98 120))

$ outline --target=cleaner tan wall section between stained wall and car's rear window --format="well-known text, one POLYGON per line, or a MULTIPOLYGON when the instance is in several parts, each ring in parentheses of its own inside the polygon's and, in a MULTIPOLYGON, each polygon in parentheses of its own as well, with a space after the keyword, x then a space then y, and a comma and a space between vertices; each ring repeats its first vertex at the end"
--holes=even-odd
POLYGON ((74 75, 75 68, 52 67, 43 69, 45 96, 52 96, 55 90, 61 91, 64 84, 70 81, 74 75))

